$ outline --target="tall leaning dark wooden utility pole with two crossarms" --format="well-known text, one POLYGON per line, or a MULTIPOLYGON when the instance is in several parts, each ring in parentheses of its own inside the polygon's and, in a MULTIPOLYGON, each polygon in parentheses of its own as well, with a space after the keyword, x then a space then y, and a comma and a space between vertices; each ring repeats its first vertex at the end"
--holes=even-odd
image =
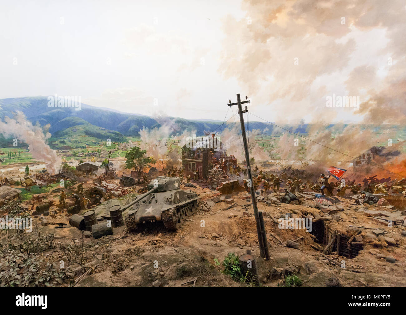
MULTIPOLYGON (((255 190, 254 190, 254 185, 253 185, 253 177, 251 174, 248 143, 247 143, 247 137, 245 134, 244 117, 242 116, 243 113, 248 112, 248 109, 245 106, 245 110, 242 110, 241 104, 250 103, 250 101, 248 101, 248 98, 247 97, 245 97, 245 98, 246 98, 246 101, 242 102, 240 99, 240 94, 237 94, 237 103, 231 103, 231 100, 230 100, 228 106, 238 105, 238 113, 240 114, 240 122, 241 122, 242 140, 244 142, 245 160, 247 162, 248 179, 250 180, 250 183, 251 183, 251 187, 250 187, 251 199, 253 201, 255 221, 257 222, 259 252, 260 252, 262 258, 269 259, 268 241, 266 239, 265 224, 263 223, 262 212, 258 212, 257 199, 255 197, 255 190)), ((238 132, 238 130, 237 130, 237 132, 238 132)))

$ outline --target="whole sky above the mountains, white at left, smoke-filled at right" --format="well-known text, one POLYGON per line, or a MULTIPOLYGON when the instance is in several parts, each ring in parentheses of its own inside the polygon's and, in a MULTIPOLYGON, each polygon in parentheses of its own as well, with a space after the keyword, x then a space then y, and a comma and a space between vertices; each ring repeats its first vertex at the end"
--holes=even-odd
POLYGON ((6 2, 0 98, 222 121, 240 93, 268 121, 404 123, 405 11, 398 0, 6 2), (333 95, 359 97, 359 110, 327 107, 333 95))

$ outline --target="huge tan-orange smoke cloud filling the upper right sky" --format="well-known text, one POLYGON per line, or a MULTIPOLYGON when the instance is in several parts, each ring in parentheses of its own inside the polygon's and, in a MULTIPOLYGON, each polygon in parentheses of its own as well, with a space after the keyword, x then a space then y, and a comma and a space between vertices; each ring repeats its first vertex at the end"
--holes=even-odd
POLYGON ((405 123, 404 1, 244 0, 242 9, 246 19, 225 19, 220 71, 248 90, 253 112, 405 123), (359 110, 326 107, 333 93, 359 96, 359 110))

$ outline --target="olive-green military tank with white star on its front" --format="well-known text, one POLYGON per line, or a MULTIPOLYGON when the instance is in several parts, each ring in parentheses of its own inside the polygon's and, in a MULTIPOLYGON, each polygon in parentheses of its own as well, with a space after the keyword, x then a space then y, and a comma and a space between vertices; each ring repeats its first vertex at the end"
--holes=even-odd
POLYGON ((177 230, 179 224, 193 214, 199 199, 196 193, 181 190, 179 186, 179 177, 159 176, 151 180, 148 192, 120 207, 121 212, 128 209, 125 215, 127 230, 133 231, 137 224, 155 221, 163 221, 168 230, 177 230))

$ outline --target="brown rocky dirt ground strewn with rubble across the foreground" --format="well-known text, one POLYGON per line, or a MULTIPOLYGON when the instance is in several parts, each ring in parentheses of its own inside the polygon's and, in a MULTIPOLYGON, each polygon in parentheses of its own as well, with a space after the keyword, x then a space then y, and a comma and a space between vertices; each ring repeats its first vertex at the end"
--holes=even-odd
MULTIPOLYGON (((265 218, 270 252, 270 259, 265 260, 259 257, 255 218, 246 192, 220 196, 198 183, 197 188, 186 189, 197 192, 201 202, 178 231, 168 232, 158 222, 140 226, 135 233, 127 233, 125 227, 113 228, 113 235, 100 239, 69 226, 71 215, 58 207, 56 194, 35 196, 37 202, 53 201, 50 214, 34 216, 31 233, 0 233, 0 272, 9 278, 22 276, 22 264, 34 256, 39 261, 38 272, 54 269, 45 283, 55 286, 246 286, 223 274, 221 263, 230 252, 240 256, 251 249, 261 286, 283 285, 285 276, 292 273, 309 287, 326 286, 328 278, 337 279, 342 286, 406 285, 406 228, 400 221, 405 213, 400 209, 357 205, 351 196, 331 197, 320 204, 314 201, 314 194, 304 193, 298 205, 280 203, 275 193, 261 194, 258 208, 265 218), (337 252, 323 255, 327 244, 305 229, 279 228, 278 219, 286 213, 292 218, 323 221, 348 235, 363 227, 356 236, 363 249, 352 259, 337 252), (393 226, 374 216, 393 219, 393 226), (55 228, 60 222, 67 224, 65 228, 55 228), (378 237, 371 232, 374 229, 384 234, 378 237), (287 241, 297 243, 296 248, 287 247, 287 241), (343 261, 345 268, 341 268, 343 261), (5 271, 10 265, 19 268, 15 274, 5 271)), ((24 205, 31 209, 32 202, 24 205)))

